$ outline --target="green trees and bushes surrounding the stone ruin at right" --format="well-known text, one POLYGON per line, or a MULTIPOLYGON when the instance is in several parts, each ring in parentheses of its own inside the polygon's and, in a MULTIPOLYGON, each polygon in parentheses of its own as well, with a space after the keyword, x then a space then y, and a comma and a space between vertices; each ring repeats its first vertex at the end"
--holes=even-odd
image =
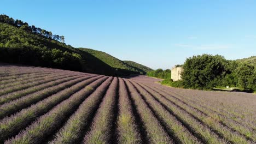
POLYGON ((183 67, 182 80, 179 81, 172 81, 171 71, 165 73, 162 69, 150 71, 147 75, 165 79, 161 83, 172 87, 207 90, 229 86, 240 91, 256 91, 256 68, 250 63, 203 54, 189 57, 179 66, 183 67))

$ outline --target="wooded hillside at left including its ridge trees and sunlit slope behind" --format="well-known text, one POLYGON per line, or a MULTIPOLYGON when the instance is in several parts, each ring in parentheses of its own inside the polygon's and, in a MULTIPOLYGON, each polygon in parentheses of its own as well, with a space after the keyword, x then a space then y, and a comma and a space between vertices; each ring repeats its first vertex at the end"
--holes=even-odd
POLYGON ((107 53, 66 45, 65 37, 7 15, 0 15, 0 61, 102 75, 139 74, 107 53), (103 54, 102 54, 103 53, 103 54))

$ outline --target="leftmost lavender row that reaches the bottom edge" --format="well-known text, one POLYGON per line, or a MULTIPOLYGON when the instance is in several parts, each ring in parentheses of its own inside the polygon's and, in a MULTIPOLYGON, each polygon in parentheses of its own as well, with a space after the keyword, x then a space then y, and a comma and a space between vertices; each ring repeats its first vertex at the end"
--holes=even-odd
POLYGON ((33 122, 24 131, 21 131, 15 137, 5 141, 5 143, 42 143, 42 140, 47 140, 48 136, 53 135, 57 129, 65 123, 66 119, 77 110, 78 106, 83 103, 89 94, 101 85, 106 85, 112 80, 111 77, 104 76, 92 82, 79 92, 73 94, 70 98, 62 101, 54 109, 40 116, 36 122, 33 122), (107 79, 107 80, 106 80, 107 79))

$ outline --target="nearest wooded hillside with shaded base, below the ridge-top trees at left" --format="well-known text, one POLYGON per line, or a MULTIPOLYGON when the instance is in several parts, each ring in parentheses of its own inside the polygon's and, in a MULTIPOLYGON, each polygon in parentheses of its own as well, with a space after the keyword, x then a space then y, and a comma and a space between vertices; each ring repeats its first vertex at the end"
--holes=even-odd
POLYGON ((0 61, 118 75, 112 67, 89 53, 1 22, 0 61))

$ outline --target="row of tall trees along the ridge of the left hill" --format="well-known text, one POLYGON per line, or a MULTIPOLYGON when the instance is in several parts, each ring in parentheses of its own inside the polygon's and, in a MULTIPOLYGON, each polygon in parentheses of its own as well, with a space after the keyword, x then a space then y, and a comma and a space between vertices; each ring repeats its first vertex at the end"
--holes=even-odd
POLYGON ((57 40, 62 43, 65 42, 65 37, 63 35, 55 35, 52 32, 46 31, 45 29, 36 27, 34 25, 30 26, 30 25, 28 25, 27 22, 23 22, 18 19, 14 20, 13 18, 9 17, 8 15, 4 15, 4 14, 0 15, 0 22, 8 23, 9 25, 18 27, 22 30, 42 35, 45 38, 57 40))

